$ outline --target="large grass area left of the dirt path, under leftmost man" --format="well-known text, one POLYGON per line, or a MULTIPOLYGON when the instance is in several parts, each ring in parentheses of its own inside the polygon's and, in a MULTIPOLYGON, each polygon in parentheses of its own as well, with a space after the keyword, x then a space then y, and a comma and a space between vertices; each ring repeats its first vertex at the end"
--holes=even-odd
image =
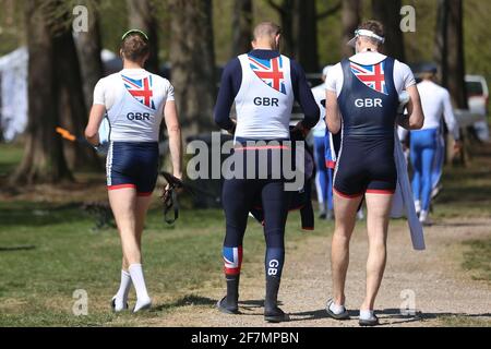
MULTIPOLYGON (((298 215, 288 224, 288 248, 304 232, 298 215)), ((118 287, 121 257, 116 229, 91 230, 91 217, 73 205, 0 203, 0 325, 127 326, 145 325, 164 312, 190 303, 213 304, 197 297, 205 284, 223 287, 220 210, 183 210, 176 227, 159 209, 149 213, 143 238, 147 284, 155 311, 115 315, 108 301, 118 287), (88 294, 88 316, 74 316, 76 289, 88 294)), ((244 276, 262 272, 264 238, 250 221, 244 241, 244 276)), ((326 231, 326 230, 324 230, 326 231)), ((318 232, 321 233, 321 232, 318 232)))

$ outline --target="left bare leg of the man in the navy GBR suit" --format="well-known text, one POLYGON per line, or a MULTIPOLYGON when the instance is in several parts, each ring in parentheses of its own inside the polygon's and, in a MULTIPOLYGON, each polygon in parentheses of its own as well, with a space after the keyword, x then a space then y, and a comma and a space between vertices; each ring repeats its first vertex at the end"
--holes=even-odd
POLYGON ((346 198, 334 194, 335 228, 331 246, 331 269, 333 274, 333 300, 345 304, 345 281, 349 264, 349 240, 355 229, 358 206, 363 196, 346 198))

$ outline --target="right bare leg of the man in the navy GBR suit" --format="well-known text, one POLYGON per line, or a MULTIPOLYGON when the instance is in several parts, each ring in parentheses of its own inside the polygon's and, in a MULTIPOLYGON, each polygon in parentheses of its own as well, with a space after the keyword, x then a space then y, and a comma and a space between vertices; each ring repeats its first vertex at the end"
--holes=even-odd
POLYGON ((367 261, 367 296, 361 310, 373 310, 386 261, 388 215, 393 195, 367 194, 367 230, 369 256, 367 261))

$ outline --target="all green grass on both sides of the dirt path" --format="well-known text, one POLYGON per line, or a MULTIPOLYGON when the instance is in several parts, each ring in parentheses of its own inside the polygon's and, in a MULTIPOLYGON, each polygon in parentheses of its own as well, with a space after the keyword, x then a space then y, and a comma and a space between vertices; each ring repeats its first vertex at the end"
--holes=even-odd
MULTIPOLYGON (((491 153, 486 153, 488 148, 477 152, 470 167, 446 168, 444 190, 435 202, 435 219, 459 217, 463 212, 467 217, 490 216, 491 153)), ((21 157, 22 146, 0 145, 1 183, 21 157)), ((73 188, 58 188, 59 192, 51 193, 51 189, 40 185, 10 196, 0 192, 0 326, 144 326, 183 305, 213 306, 215 300, 204 297, 201 290, 224 287, 221 210, 182 209, 176 226, 167 226, 159 206, 154 206, 143 246, 148 289, 156 306, 137 316, 112 314, 108 301, 119 282, 119 238, 112 228, 94 232, 94 218, 81 209, 83 201, 105 197, 104 184, 79 183, 73 188), (77 289, 87 292, 87 316, 73 315, 72 296, 77 289)), ((309 234, 326 236, 332 231, 332 225, 320 225, 324 228, 309 234)), ((299 215, 290 214, 289 251, 304 238, 299 227, 299 215)), ((466 248, 470 250, 464 267, 476 270, 477 278, 489 279, 490 242, 472 241, 466 248)), ((250 221, 244 240, 244 276, 263 273, 263 258, 262 228, 250 221)), ((457 317, 442 321, 462 326, 479 323, 477 318, 457 317)))

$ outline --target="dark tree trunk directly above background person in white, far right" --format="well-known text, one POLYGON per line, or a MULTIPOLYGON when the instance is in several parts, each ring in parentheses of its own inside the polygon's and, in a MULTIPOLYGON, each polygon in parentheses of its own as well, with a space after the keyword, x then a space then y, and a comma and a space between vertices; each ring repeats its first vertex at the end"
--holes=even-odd
POLYGON ((442 85, 455 105, 467 109, 462 0, 439 0, 434 58, 442 85))

